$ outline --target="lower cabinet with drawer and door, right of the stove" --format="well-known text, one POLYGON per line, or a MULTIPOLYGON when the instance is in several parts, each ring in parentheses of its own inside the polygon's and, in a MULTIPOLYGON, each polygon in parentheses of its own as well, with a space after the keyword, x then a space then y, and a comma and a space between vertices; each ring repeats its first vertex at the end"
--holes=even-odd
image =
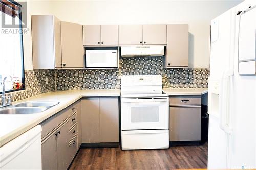
POLYGON ((201 140, 201 96, 170 97, 169 140, 201 140))

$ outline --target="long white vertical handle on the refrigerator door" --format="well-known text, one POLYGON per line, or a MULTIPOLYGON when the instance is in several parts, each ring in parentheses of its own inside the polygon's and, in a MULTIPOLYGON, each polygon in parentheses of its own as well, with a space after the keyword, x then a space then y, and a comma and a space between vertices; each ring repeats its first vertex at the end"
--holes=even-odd
POLYGON ((226 70, 221 79, 221 93, 220 93, 220 128, 227 134, 232 134, 232 128, 227 125, 228 114, 228 80, 234 75, 234 70, 226 70))

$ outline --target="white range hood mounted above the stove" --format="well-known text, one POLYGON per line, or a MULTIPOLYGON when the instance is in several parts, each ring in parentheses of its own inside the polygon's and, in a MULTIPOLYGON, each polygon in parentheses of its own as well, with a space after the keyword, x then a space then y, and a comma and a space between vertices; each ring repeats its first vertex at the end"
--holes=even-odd
POLYGON ((122 57, 150 56, 158 57, 164 55, 164 46, 122 46, 122 57))

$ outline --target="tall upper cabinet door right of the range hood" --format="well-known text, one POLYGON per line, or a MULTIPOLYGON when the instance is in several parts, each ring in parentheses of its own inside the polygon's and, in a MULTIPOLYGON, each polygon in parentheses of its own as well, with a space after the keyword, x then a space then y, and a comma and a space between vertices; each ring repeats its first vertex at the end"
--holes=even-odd
POLYGON ((188 25, 167 25, 166 67, 188 66, 188 25))

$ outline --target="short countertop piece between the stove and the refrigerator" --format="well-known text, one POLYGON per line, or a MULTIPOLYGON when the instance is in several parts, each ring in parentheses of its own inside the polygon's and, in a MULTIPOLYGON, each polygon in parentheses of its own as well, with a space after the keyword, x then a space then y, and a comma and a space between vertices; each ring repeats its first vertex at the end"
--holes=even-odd
POLYGON ((169 95, 203 95, 208 88, 163 88, 163 92, 169 95))

